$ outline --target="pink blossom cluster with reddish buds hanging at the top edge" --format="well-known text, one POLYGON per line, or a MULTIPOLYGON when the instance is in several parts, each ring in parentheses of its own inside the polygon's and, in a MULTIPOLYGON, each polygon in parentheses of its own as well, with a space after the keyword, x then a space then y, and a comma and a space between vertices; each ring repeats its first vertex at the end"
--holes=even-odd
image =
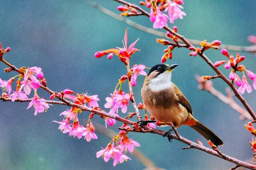
POLYGON ((140 4, 150 8, 150 21, 154 23, 153 28, 163 28, 168 26, 168 19, 173 24, 174 20, 183 19, 183 16, 186 16, 186 13, 182 11, 181 5, 184 4, 182 0, 145 0, 140 4), (164 14, 163 10, 168 12, 168 15, 164 14))

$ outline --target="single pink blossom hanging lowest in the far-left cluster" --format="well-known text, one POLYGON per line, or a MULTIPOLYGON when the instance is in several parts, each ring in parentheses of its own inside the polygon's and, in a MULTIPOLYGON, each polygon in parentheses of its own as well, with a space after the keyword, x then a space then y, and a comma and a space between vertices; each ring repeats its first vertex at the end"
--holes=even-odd
POLYGON ((32 101, 28 104, 27 109, 29 109, 32 105, 35 109, 34 115, 37 115, 37 113, 42 113, 49 108, 49 104, 45 103, 45 100, 38 97, 36 94, 34 95, 32 101))

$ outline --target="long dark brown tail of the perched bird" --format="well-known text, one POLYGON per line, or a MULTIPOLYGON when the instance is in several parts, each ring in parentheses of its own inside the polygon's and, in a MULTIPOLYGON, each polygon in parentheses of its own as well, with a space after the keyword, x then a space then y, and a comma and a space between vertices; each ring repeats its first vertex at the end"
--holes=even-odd
POLYGON ((214 143, 216 146, 223 145, 222 140, 214 132, 212 132, 212 130, 203 125, 198 120, 194 119, 194 121, 195 125, 190 125, 190 127, 196 130, 202 136, 204 136, 204 138, 206 138, 207 140, 211 140, 211 142, 214 143))

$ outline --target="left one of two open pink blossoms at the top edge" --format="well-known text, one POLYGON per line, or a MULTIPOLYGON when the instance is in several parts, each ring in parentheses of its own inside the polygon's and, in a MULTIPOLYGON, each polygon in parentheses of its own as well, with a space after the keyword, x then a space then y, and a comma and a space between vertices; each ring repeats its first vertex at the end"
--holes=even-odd
MULTIPOLYGON (((150 19, 154 20, 154 19, 150 19)), ((153 28, 163 28, 167 26, 168 16, 156 6, 156 19, 154 20, 153 28)))

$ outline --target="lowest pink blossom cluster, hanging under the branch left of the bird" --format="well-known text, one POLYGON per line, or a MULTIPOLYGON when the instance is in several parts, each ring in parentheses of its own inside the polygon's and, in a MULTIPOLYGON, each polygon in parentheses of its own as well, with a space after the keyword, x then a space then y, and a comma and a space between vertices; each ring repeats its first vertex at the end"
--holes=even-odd
MULTIPOLYGON (((124 124, 122 127, 127 127, 124 124)), ((96 153, 96 157, 103 157, 105 162, 108 162, 110 158, 114 160, 113 165, 116 166, 118 163, 123 163, 124 161, 131 160, 126 153, 129 151, 131 154, 134 150, 134 147, 139 147, 140 144, 132 138, 128 138, 127 132, 124 130, 120 130, 118 135, 114 135, 113 139, 108 143, 106 148, 102 148, 102 150, 96 153)))

